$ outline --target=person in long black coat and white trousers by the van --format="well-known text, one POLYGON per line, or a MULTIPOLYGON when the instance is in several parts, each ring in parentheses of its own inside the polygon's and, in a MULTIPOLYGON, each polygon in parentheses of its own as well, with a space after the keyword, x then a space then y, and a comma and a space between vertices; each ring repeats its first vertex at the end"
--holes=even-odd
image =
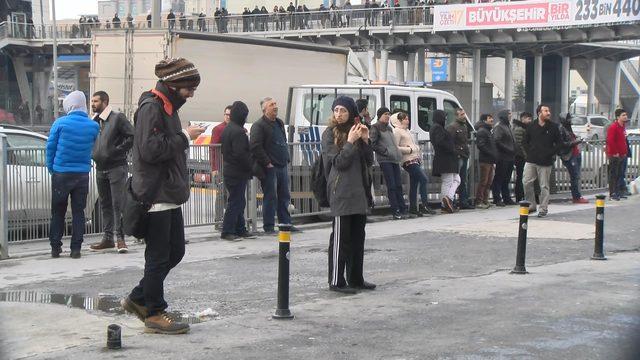
POLYGON ((453 213, 453 198, 460 185, 458 174, 458 158, 456 156, 453 136, 445 130, 447 113, 442 110, 433 112, 433 126, 429 130, 429 138, 433 145, 432 175, 442 178, 440 195, 442 198, 442 211, 453 213))

